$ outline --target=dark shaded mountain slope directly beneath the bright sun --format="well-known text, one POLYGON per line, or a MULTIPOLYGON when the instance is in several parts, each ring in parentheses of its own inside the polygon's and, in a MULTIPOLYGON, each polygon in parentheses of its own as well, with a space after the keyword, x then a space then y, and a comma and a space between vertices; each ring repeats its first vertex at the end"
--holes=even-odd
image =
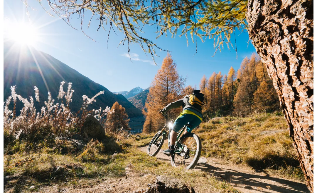
MULTIPOLYGON (((49 54, 30 47, 20 48, 12 42, 5 42, 3 48, 4 99, 10 96, 10 87, 13 85, 16 85, 17 94, 24 98, 32 96, 35 99, 34 86, 36 86, 39 88, 40 106, 44 106, 44 101, 47 101, 48 92, 51 92, 55 102, 60 103, 56 96, 60 82, 65 81, 64 91, 67 91, 68 82, 72 82, 74 93, 73 101, 69 106, 74 112, 80 109, 83 95, 91 98, 98 92, 105 91, 104 94, 96 98, 96 102, 88 106, 88 109, 99 109, 99 107, 104 109, 106 106, 111 107, 114 102, 118 101, 126 108, 129 117, 142 116, 141 110, 133 106, 122 94, 110 92, 106 87, 90 80, 49 54)), ((87 68, 89 68, 88 65, 87 68)), ((20 101, 17 103, 17 108, 19 107, 22 107, 20 101)))

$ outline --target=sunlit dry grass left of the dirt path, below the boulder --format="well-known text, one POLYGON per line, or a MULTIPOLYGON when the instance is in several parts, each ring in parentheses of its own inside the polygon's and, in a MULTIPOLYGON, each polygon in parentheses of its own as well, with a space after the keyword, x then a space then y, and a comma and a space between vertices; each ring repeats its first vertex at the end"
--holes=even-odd
MULTIPOLYGON (((141 152, 138 148, 148 144, 152 135, 116 137, 116 141, 109 137, 107 144, 89 142, 86 149, 77 153, 70 153, 68 144, 56 144, 52 141, 38 144, 11 143, 4 151, 4 176, 10 176, 4 191, 48 192, 45 189, 54 185, 59 188, 85 187, 100 184, 106 179, 122 178, 128 175, 127 170, 132 170, 134 176, 154 176, 153 179, 145 178, 151 179, 150 181, 145 181, 144 178, 133 181, 134 184, 139 183, 138 187, 153 183, 155 175, 167 175, 194 187, 196 192, 237 192, 228 183, 217 181, 206 172, 173 168, 169 163, 141 152), (121 152, 119 146, 123 148, 121 152), (115 151, 118 153, 111 155, 115 151)), ((135 180, 127 178, 129 179, 135 180)))

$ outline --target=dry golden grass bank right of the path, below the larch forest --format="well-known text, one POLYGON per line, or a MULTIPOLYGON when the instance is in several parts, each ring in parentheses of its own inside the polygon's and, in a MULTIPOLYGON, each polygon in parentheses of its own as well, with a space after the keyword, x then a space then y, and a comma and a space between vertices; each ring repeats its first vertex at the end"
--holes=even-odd
POLYGON ((195 133, 202 139, 206 157, 304 181, 287 123, 279 112, 215 118, 201 124, 195 133))

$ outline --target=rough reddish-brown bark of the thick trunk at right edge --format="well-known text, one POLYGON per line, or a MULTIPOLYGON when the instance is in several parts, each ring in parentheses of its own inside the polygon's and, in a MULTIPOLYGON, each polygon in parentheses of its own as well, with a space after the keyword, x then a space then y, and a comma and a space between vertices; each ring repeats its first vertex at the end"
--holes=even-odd
POLYGON ((298 159, 314 191, 312 0, 249 0, 249 36, 273 78, 298 159))

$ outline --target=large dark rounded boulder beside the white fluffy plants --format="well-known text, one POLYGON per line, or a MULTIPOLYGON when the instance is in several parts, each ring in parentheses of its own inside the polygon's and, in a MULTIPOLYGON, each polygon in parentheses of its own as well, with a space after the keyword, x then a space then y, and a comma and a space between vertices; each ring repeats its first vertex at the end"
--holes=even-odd
POLYGON ((81 127, 81 133, 86 133, 87 137, 92 137, 94 139, 101 140, 106 138, 105 129, 102 127, 99 121, 93 115, 90 114, 87 115, 86 120, 83 126, 81 127))

